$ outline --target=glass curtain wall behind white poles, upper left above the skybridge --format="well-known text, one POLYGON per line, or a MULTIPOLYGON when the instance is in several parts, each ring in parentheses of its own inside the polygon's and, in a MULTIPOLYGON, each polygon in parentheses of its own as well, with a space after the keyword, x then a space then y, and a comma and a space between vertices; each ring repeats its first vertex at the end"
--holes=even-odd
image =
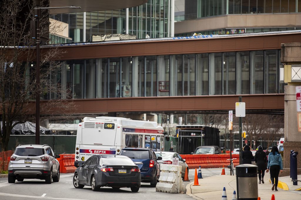
MULTIPOLYGON (((69 24, 71 42, 85 42, 83 37, 84 14, 86 17, 85 41, 92 35, 126 34, 126 9, 86 13, 55 14, 50 17, 69 24)), ((137 38, 168 37, 169 0, 149 0, 146 4, 129 8, 129 34, 137 38)))

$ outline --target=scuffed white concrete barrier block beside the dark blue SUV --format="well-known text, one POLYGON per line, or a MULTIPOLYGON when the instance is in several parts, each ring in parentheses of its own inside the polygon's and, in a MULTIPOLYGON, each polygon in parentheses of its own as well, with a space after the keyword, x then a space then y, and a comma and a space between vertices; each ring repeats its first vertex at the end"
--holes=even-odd
POLYGON ((179 165, 160 165, 160 178, 157 183, 157 192, 166 193, 186 193, 186 187, 181 177, 181 168, 179 165))

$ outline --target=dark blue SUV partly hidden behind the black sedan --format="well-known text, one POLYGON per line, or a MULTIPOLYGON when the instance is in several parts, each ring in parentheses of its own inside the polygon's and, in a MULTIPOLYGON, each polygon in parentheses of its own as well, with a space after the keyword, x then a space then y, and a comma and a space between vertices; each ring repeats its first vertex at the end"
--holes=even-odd
POLYGON ((157 180, 160 176, 160 164, 158 160, 162 157, 156 157, 154 150, 151 148, 123 148, 120 155, 128 156, 139 167, 141 171, 141 182, 151 183, 156 187, 157 180))

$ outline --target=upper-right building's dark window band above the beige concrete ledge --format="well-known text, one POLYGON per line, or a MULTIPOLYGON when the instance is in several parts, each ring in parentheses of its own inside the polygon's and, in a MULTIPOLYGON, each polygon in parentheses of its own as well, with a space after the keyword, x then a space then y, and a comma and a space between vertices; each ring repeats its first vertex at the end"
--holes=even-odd
POLYGON ((301 0, 176 0, 182 9, 175 20, 192 20, 225 14, 300 13, 301 0), (183 13, 184 8, 184 13, 183 13))

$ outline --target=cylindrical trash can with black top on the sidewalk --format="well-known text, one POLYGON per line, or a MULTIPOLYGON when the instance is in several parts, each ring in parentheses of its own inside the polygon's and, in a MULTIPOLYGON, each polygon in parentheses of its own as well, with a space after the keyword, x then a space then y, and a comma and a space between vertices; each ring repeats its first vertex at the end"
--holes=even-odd
POLYGON ((237 200, 257 200, 257 166, 250 164, 237 165, 235 167, 235 172, 237 200))

